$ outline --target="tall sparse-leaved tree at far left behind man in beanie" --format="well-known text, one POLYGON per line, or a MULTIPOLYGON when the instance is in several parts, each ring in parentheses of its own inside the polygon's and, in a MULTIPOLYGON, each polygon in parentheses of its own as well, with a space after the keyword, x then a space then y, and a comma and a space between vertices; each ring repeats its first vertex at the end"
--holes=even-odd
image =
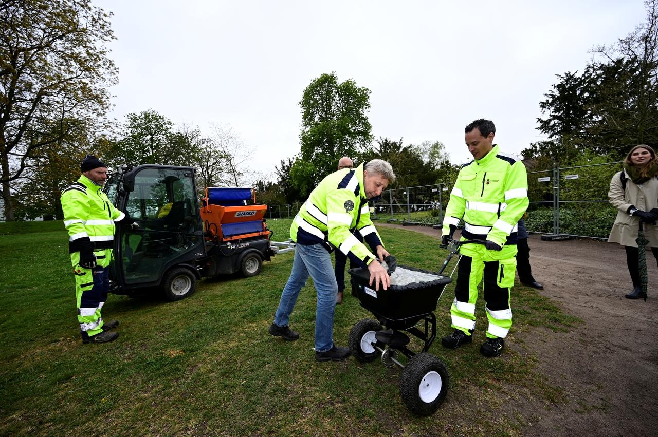
POLYGON ((101 129, 116 68, 109 14, 89 0, 0 3, 0 187, 14 220, 14 187, 66 137, 101 129))

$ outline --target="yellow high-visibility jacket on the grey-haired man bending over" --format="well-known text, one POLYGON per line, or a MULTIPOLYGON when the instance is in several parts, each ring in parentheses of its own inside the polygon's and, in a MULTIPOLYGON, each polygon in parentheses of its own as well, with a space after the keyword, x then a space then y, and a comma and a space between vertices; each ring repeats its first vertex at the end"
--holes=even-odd
POLYGON ((338 170, 320 181, 293 219, 290 226, 293 241, 298 244, 320 243, 329 251, 336 247, 364 268, 376 258, 353 235, 353 231, 358 230, 375 252, 377 246, 384 246, 370 220, 363 187, 364 165, 365 162, 354 170, 338 170))

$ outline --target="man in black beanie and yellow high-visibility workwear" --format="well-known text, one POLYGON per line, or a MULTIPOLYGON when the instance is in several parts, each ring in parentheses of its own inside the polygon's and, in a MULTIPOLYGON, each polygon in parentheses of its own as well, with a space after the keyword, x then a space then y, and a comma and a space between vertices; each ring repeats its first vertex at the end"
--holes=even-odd
POLYGON ((80 164, 82 175, 64 189, 61 202, 64 226, 68 231, 68 252, 76 278, 78 323, 83 343, 106 343, 115 340, 111 332, 118 321, 103 321, 101 308, 109 291, 109 265, 112 259, 114 223, 132 228, 139 225, 128 214, 114 208, 103 185, 107 166, 93 155, 80 164))

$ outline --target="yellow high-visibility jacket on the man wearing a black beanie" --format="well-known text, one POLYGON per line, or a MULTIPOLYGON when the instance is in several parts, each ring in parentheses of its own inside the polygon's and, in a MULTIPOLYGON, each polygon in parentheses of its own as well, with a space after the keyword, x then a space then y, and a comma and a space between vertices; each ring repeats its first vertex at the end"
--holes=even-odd
POLYGON ((70 253, 112 248, 114 222, 132 221, 124 212, 114 208, 103 193, 103 187, 95 185, 85 175, 64 189, 61 202, 70 253))

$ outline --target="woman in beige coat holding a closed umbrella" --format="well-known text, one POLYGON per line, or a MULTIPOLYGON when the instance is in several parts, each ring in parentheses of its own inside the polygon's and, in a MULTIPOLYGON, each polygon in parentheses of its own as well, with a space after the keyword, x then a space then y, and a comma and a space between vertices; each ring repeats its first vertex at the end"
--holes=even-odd
POLYGON ((618 242, 626 249, 626 263, 630 279, 633 281, 632 292, 626 294, 629 299, 645 297, 640 288, 638 243, 635 241, 638 238, 640 221, 642 221, 644 236, 649 240, 647 247, 656 248, 656 250, 651 249, 651 252, 658 262, 657 175, 656 154, 651 147, 642 144, 628 152, 624 160, 624 170, 616 173, 610 181, 608 198, 619 211, 608 242, 618 242))

